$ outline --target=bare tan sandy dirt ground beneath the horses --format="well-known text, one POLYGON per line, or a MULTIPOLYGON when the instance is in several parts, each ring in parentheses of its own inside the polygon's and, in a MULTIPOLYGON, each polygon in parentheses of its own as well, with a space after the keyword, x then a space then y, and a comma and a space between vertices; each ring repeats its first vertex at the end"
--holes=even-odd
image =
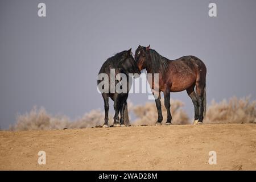
POLYGON ((256 125, 1 131, 0 169, 255 170, 256 125), (216 151, 216 165, 208 163, 209 151, 216 151))

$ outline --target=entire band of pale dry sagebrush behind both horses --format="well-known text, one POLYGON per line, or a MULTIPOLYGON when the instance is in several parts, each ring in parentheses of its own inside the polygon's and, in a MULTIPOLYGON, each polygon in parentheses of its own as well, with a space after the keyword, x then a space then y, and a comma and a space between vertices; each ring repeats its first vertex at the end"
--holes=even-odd
MULTIPOLYGON (((166 122, 167 113, 162 102, 163 123, 166 122)), ((249 97, 220 103, 212 102, 207 108, 204 123, 256 123, 256 101, 250 102, 249 97)), ((188 115, 182 110, 183 102, 171 100, 172 123, 189 124, 188 115)), ((131 125, 155 125, 158 118, 155 102, 147 102, 144 105, 133 105, 128 102, 129 113, 134 113, 137 119, 131 125)), ((102 125, 105 113, 101 110, 92 110, 83 117, 70 121, 65 115, 51 115, 42 107, 34 107, 30 113, 17 115, 15 125, 10 130, 52 130, 52 129, 75 129, 102 125)), ((113 115, 109 114, 109 124, 113 123, 113 115)))

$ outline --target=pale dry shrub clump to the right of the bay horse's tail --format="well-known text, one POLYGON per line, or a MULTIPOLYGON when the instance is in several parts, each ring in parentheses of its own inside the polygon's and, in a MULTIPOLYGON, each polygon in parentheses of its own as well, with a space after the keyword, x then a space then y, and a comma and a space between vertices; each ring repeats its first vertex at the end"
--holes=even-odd
POLYGON ((208 107, 205 123, 256 123, 256 101, 250 102, 250 97, 237 99, 232 97, 212 104, 208 107))

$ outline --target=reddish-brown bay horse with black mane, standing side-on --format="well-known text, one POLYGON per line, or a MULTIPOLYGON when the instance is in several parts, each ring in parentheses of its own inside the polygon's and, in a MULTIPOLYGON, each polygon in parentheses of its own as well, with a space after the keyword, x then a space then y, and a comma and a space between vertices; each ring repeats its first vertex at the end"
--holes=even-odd
MULTIPOLYGON (((158 94, 156 97, 156 108, 158 110, 158 121, 156 125, 162 125, 163 115, 161 110, 160 92, 164 94, 164 106, 167 110, 166 125, 171 125, 170 92, 181 92, 187 90, 195 107, 194 124, 203 123, 206 111, 206 74, 207 68, 203 61, 195 56, 183 56, 176 60, 169 60, 159 55, 150 46, 139 46, 135 52, 135 61, 140 71, 146 69, 147 73, 158 73, 158 94), (195 89, 196 87, 196 89, 195 89)), ((152 76, 154 79, 154 77, 152 76)), ((155 89, 154 82, 149 81, 151 89, 155 89)), ((154 93, 155 94, 155 93, 154 93)))

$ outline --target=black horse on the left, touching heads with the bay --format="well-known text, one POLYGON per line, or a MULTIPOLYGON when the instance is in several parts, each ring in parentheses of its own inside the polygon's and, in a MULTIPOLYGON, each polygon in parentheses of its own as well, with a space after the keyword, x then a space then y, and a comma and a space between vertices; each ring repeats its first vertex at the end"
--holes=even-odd
POLYGON ((141 74, 131 53, 131 48, 128 51, 122 51, 110 57, 100 69, 99 76, 101 76, 98 77, 98 88, 104 89, 104 92, 101 93, 105 106, 105 122, 103 127, 108 127, 109 97, 114 101, 114 127, 129 125, 126 102, 131 87, 131 79, 129 79, 131 75, 129 73, 137 73, 135 74, 137 76, 141 74), (105 73, 108 78, 102 79, 102 73, 105 73), (114 77, 114 80, 111 80, 112 77, 114 77), (103 85, 102 81, 105 81, 103 85), (125 85, 123 85, 123 82, 125 85), (116 88, 119 88, 119 91, 116 88), (120 121, 119 112, 121 116, 120 121))

